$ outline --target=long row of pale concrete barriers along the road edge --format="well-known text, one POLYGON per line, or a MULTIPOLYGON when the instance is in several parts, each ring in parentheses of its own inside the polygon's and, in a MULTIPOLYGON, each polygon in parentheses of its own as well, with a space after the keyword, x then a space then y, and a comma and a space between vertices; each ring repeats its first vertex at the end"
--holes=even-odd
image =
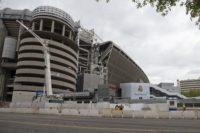
POLYGON ((47 115, 75 115, 112 118, 200 119, 200 111, 132 111, 113 109, 60 109, 60 108, 0 108, 6 113, 31 113, 47 115))

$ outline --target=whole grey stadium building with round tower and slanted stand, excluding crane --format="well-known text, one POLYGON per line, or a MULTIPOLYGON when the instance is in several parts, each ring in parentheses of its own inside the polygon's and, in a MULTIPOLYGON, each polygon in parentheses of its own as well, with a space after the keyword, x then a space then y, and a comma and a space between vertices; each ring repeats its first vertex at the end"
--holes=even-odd
POLYGON ((112 41, 103 42, 94 30, 84 29, 66 12, 50 6, 33 11, 6 8, 0 10, 1 100, 32 101, 45 85, 43 48, 16 20, 48 42, 55 94, 149 83, 121 48, 112 41))

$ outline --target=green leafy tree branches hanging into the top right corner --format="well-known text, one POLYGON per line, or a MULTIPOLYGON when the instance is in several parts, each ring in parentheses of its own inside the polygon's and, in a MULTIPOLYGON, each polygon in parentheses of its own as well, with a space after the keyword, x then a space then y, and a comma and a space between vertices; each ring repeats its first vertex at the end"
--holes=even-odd
MULTIPOLYGON (((96 0, 99 1, 99 0, 96 0)), ((182 6, 186 8, 186 14, 190 15, 191 20, 195 18, 196 25, 200 28, 200 0, 132 0, 137 8, 150 5, 157 12, 165 16, 171 11, 172 7, 182 6)), ((106 0, 110 2, 110 0, 106 0)))

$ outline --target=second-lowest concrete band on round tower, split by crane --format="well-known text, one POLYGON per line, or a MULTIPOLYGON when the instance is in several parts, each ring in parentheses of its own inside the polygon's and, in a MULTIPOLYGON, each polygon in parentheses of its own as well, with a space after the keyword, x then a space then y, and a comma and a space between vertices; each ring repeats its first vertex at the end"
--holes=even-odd
MULTIPOLYGON (((15 83, 39 83, 39 84, 44 84, 44 78, 39 78, 39 77, 16 77, 15 78, 15 83)), ((64 82, 64 81, 59 81, 59 80, 54 80, 52 79, 52 85, 58 85, 62 86, 63 88, 66 89, 71 89, 74 90, 75 86, 73 84, 64 82)))

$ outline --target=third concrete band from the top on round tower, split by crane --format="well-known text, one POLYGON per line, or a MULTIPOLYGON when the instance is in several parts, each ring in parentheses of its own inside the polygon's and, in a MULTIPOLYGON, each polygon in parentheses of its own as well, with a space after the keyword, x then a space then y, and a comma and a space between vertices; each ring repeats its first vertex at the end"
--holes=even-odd
MULTIPOLYGON (((44 59, 44 55, 42 53, 20 53, 18 55, 18 59, 26 59, 26 58, 44 59)), ((62 59, 62 58, 51 55, 51 61, 66 64, 67 66, 71 67, 73 70, 77 71, 77 67, 73 63, 67 61, 66 59, 62 59)))

